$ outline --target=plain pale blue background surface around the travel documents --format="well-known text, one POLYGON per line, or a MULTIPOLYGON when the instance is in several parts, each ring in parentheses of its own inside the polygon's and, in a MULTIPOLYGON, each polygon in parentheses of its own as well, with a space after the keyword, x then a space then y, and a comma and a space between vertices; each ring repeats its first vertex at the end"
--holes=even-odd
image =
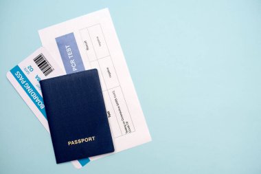
POLYGON ((261 173, 261 1, 0 1, 0 173, 261 173), (152 142, 57 165, 5 78, 38 30, 108 7, 152 142))

